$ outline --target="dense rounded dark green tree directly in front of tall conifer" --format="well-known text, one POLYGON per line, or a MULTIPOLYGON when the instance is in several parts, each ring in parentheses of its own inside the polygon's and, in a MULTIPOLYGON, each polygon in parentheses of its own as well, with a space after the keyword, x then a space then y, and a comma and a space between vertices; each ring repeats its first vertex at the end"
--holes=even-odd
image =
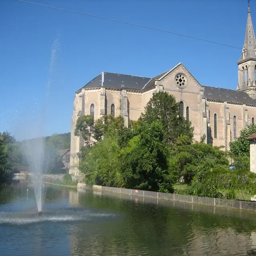
POLYGON ((121 170, 127 188, 170 192, 176 177, 168 169, 168 147, 160 121, 144 123, 123 149, 121 170))

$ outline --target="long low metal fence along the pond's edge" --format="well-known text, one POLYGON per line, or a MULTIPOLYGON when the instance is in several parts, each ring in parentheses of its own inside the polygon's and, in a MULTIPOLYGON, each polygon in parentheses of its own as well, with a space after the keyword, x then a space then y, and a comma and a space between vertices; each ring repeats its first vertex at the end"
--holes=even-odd
MULTIPOLYGON (((94 189, 99 190, 100 186, 95 186, 94 189)), ((210 206, 218 206, 218 207, 225 207, 225 208, 231 208, 231 209, 243 209, 243 210, 256 211, 256 202, 236 201, 236 200, 218 199, 218 198, 211 198, 211 197, 194 197, 194 196, 188 196, 188 195, 160 193, 160 192, 154 192, 154 191, 135 190, 135 189, 129 189, 129 188, 115 188, 115 187, 106 187, 106 186, 101 186, 101 190, 108 191, 111 193, 133 195, 138 197, 150 197, 155 199, 165 199, 165 200, 178 201, 178 202, 184 202, 184 203, 193 203, 193 204, 199 204, 199 205, 210 205, 210 206)))

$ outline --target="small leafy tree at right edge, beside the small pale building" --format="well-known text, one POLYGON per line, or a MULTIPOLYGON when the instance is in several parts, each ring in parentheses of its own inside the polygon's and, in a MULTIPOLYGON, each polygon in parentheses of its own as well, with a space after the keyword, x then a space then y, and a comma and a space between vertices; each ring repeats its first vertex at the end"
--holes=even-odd
POLYGON ((256 125, 252 123, 240 131, 240 136, 229 143, 230 151, 234 156, 250 156, 250 141, 246 140, 256 133, 256 125))

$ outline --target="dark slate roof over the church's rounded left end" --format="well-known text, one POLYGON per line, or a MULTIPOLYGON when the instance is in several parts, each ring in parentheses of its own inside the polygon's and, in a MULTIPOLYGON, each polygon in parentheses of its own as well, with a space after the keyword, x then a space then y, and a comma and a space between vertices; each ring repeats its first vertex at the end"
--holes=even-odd
POLYGON ((86 84, 83 88, 104 86, 108 88, 127 88, 141 90, 145 86, 145 84, 147 84, 150 81, 150 79, 151 78, 148 77, 104 72, 103 75, 102 73, 99 74, 98 76, 96 76, 96 78, 94 78, 92 81, 86 84))

